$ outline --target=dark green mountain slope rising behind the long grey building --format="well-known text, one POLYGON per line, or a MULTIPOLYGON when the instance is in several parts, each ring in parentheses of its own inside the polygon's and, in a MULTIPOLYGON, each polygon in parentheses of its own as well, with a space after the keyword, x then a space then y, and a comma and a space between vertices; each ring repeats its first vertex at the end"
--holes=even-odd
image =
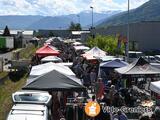
MULTIPOLYGON (((130 22, 139 21, 159 21, 160 20, 160 0, 150 0, 142 6, 131 10, 129 20, 130 22)), ((128 21, 127 12, 114 15, 103 21, 97 27, 107 27, 112 25, 126 24, 128 21)))

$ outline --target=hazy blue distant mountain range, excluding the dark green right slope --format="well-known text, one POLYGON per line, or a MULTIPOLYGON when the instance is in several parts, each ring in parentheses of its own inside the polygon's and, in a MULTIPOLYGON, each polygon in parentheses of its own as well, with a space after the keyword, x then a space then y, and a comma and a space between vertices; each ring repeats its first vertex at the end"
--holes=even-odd
MULTIPOLYGON (((94 24, 118 13, 119 11, 107 11, 103 13, 94 13, 94 24)), ((71 22, 78 23, 80 21, 82 27, 91 25, 92 13, 83 11, 79 14, 70 14, 63 16, 31 16, 31 15, 9 15, 0 16, 0 29, 4 29, 7 25, 10 29, 66 29, 71 22), (78 15, 80 16, 78 18, 78 15)))

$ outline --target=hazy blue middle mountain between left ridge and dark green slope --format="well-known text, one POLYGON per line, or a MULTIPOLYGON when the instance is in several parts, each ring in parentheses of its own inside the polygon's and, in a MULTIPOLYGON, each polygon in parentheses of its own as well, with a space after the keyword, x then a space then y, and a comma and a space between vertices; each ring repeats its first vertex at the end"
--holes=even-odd
MULTIPOLYGON (((109 17, 116 12, 107 12, 107 13, 94 13, 94 23, 103 20, 109 17)), ((91 24, 92 14, 90 12, 81 12, 78 14, 80 16, 80 23, 82 27, 91 24)), ((59 29, 59 28, 68 28, 71 22, 79 22, 77 14, 64 15, 64 16, 56 16, 56 17, 45 17, 40 19, 39 21, 31 24, 28 28, 32 29, 59 29)))

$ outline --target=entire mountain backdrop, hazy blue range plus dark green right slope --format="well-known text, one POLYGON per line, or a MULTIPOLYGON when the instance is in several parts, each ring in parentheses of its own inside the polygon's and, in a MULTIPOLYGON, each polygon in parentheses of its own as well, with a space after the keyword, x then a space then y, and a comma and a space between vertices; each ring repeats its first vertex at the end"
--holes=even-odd
MULTIPOLYGON (((149 0, 142 6, 130 10, 129 22, 135 23, 140 21, 160 21, 160 0, 149 0)), ((89 28, 92 22, 91 11, 83 11, 79 14, 70 14, 63 16, 0 16, 0 29, 4 29, 6 25, 10 29, 67 29, 70 23, 79 22, 83 28, 89 28)), ((128 22, 128 12, 107 11, 102 13, 94 12, 94 26, 108 27, 122 25, 128 22)))

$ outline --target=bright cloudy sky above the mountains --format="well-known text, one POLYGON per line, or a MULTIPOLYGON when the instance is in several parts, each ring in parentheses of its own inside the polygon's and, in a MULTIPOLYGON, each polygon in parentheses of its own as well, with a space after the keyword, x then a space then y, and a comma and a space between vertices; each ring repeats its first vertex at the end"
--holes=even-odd
MULTIPOLYGON (((128 0, 0 0, 0 15, 44 15, 57 16, 112 10, 127 10, 128 0)), ((148 0, 130 0, 131 8, 137 8, 148 0)))

